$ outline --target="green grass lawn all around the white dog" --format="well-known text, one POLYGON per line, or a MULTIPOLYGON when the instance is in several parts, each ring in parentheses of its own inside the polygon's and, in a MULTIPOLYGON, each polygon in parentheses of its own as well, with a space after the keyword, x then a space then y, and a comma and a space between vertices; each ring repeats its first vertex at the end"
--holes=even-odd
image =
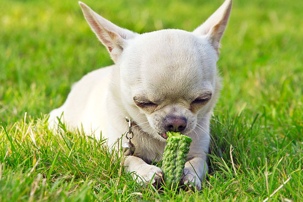
MULTIPOLYGON (((84 1, 140 33, 193 30, 222 2, 84 1)), ((0 201, 303 201, 302 1, 234 2, 211 169, 195 193, 142 188, 104 141, 49 131, 72 83, 112 62, 77 1, 0 3, 0 201)))

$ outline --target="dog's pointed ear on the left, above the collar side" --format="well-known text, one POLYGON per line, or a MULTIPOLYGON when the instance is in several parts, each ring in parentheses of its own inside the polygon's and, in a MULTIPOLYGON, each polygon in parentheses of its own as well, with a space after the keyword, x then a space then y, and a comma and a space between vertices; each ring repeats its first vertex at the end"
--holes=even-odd
POLYGON ((98 39, 107 47, 112 60, 117 62, 123 52, 125 41, 135 37, 137 33, 118 27, 96 14, 82 2, 79 2, 79 5, 88 25, 97 35, 98 39))

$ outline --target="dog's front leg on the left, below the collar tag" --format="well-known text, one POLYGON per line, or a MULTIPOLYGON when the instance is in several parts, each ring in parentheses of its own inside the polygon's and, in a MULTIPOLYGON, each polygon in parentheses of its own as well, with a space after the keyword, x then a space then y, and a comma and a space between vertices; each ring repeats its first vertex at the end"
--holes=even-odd
POLYGON ((124 168, 126 172, 131 173, 134 180, 139 183, 148 183, 160 185, 163 172, 157 166, 149 165, 142 159, 134 156, 126 157, 124 161, 124 168))

